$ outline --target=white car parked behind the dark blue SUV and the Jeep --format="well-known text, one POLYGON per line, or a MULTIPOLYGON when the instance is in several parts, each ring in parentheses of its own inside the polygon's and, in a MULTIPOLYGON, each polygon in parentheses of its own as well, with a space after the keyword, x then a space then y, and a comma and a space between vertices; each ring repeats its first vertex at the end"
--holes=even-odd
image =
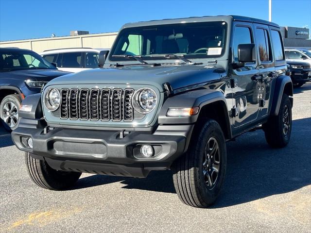
POLYGON ((99 54, 106 56, 110 49, 69 48, 45 50, 40 55, 50 63, 56 63, 59 70, 80 72, 98 68, 99 54))

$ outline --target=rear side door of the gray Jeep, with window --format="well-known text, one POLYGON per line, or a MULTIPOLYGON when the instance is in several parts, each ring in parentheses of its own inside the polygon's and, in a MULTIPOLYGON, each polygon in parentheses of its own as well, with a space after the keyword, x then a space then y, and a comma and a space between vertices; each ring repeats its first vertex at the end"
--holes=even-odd
POLYGON ((261 76, 257 94, 260 116, 265 116, 268 114, 268 107, 271 100, 271 84, 272 80, 276 78, 276 69, 274 67, 269 26, 263 24, 254 24, 254 26, 259 75, 261 76))

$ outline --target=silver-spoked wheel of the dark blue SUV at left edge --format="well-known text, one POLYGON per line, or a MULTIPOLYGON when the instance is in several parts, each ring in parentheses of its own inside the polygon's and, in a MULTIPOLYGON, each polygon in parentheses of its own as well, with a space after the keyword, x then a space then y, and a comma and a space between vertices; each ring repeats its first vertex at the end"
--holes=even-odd
POLYGON ((9 95, 3 98, 0 104, 0 118, 4 128, 12 131, 18 125, 18 111, 21 106, 19 95, 9 95))

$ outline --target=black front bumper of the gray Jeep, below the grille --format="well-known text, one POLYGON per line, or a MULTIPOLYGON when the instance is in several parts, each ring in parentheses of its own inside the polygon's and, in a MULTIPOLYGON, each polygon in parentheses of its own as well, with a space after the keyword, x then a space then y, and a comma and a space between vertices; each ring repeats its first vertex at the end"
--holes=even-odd
MULTIPOLYGON (((23 119, 22 119, 23 120, 23 119)), ((23 122, 19 126, 25 126, 23 122)), ((54 169, 98 174, 146 177, 150 170, 170 168, 187 150, 193 125, 159 126, 154 133, 66 128, 18 127, 12 139, 19 150, 45 159, 54 169), (33 139, 33 149, 25 137, 33 139), (143 157, 143 144, 155 148, 155 156, 143 157)))

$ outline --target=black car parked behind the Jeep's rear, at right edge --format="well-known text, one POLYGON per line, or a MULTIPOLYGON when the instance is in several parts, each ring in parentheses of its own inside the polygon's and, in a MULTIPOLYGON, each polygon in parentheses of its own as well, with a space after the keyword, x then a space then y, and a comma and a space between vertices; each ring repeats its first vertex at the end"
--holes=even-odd
POLYGON ((311 80, 311 66, 306 62, 287 62, 290 66, 290 77, 293 85, 300 87, 311 80))

